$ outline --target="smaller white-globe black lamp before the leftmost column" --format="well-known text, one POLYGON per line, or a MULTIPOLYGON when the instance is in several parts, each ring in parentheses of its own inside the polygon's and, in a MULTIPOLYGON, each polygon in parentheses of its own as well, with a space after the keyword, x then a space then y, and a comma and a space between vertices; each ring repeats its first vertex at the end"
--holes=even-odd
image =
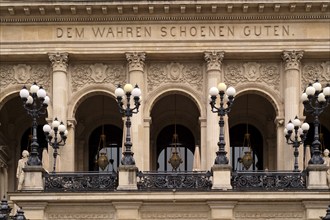
POLYGON ((54 119, 52 122, 52 126, 49 124, 45 124, 42 128, 46 135, 46 140, 50 146, 54 149, 54 166, 53 166, 53 172, 55 172, 56 169, 56 157, 58 155, 57 150, 60 146, 65 145, 66 138, 68 136, 68 130, 66 130, 65 125, 63 122, 59 122, 57 118, 54 119))

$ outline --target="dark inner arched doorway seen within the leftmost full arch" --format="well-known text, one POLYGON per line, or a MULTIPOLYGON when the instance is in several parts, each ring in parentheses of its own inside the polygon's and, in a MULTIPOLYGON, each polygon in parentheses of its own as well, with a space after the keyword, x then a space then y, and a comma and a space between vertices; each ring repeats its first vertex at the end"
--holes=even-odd
POLYGON ((122 129, 111 124, 101 125, 92 131, 88 144, 89 171, 117 172, 122 157, 122 134, 122 129), (98 165, 101 156, 108 161, 105 167, 98 165))

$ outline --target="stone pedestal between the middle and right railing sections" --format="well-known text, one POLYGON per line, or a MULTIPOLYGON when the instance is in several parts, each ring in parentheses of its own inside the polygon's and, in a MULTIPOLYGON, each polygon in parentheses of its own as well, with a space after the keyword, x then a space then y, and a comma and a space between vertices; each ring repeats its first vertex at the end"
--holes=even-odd
POLYGON ((231 186, 231 169, 228 164, 215 164, 212 167, 212 189, 228 190, 231 186))

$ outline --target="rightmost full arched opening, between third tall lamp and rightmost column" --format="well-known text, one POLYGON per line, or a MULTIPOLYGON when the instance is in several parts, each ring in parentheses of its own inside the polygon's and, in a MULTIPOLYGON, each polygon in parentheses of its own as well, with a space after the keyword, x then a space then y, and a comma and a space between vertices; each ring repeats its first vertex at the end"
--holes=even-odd
POLYGON ((229 113, 230 145, 234 154, 230 159, 235 170, 243 169, 242 163, 238 160, 243 159, 245 152, 248 151, 247 145, 244 143, 246 133, 250 134, 254 160, 249 170, 276 170, 277 128, 274 123, 275 119, 274 106, 264 94, 247 91, 235 98, 229 113))

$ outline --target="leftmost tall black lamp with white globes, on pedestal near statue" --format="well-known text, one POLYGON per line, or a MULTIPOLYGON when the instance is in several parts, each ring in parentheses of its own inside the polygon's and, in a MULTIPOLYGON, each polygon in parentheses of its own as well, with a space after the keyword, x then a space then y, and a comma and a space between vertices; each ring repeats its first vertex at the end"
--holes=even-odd
POLYGON ((39 166, 41 161, 38 153, 38 139, 37 139, 37 118, 40 115, 46 114, 46 109, 49 103, 49 97, 46 95, 46 91, 42 86, 37 86, 36 83, 30 88, 30 91, 24 86, 19 93, 23 100, 23 106, 27 113, 32 117, 32 143, 30 157, 27 161, 29 166, 39 166))

